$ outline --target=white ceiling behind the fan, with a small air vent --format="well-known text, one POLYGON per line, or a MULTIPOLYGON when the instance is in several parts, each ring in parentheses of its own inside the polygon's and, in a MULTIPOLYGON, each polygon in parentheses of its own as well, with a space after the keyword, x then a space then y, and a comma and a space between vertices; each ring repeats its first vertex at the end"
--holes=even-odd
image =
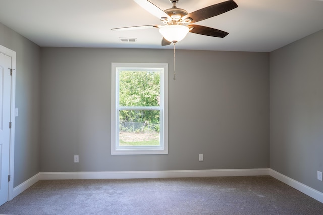
MULTIPOLYGON (((223 0, 179 0, 188 13, 223 0)), ((150 0, 160 9, 169 0, 150 0)), ((238 8, 197 22, 229 32, 225 38, 189 33, 177 49, 271 52, 323 29, 323 1, 235 0, 238 8)), ((111 28, 163 25, 133 0, 0 0, 0 22, 42 47, 172 49, 158 29, 111 28), (121 42, 119 38, 137 38, 121 42)), ((194 23, 195 24, 195 23, 194 23)))

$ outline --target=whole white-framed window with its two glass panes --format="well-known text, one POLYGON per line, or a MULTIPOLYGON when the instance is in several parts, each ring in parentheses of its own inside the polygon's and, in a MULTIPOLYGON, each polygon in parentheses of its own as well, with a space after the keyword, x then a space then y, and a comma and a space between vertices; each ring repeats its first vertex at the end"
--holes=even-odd
POLYGON ((168 153, 168 64, 112 63, 111 154, 168 153))

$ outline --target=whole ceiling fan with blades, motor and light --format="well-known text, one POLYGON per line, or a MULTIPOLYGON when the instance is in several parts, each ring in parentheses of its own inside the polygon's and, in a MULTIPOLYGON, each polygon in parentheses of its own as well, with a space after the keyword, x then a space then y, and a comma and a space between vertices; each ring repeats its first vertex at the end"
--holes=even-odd
POLYGON ((148 0, 134 1, 149 13, 158 17, 164 25, 142 25, 113 28, 111 30, 123 31, 159 28, 159 32, 163 35, 163 40, 161 41, 161 45, 163 46, 170 45, 171 43, 175 44, 181 41, 185 38, 188 32, 220 38, 227 36, 229 33, 225 31, 201 25, 193 25, 192 23, 220 15, 238 7, 233 0, 228 0, 188 13, 186 10, 176 7, 176 3, 178 3, 179 0, 170 0, 173 7, 164 11, 148 0))

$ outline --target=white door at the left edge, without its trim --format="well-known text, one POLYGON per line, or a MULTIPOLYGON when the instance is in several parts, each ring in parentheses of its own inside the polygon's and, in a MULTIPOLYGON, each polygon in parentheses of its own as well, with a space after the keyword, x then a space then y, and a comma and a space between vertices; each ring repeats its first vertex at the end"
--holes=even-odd
POLYGON ((11 119, 11 57, 0 53, 0 205, 8 201, 11 119))

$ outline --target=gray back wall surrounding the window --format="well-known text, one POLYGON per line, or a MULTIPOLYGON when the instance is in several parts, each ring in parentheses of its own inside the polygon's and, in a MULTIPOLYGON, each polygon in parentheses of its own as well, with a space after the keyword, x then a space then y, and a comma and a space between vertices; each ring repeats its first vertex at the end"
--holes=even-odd
POLYGON ((268 56, 41 48, 41 172, 268 168, 268 56), (111 62, 169 63, 168 155, 110 155, 111 62))

